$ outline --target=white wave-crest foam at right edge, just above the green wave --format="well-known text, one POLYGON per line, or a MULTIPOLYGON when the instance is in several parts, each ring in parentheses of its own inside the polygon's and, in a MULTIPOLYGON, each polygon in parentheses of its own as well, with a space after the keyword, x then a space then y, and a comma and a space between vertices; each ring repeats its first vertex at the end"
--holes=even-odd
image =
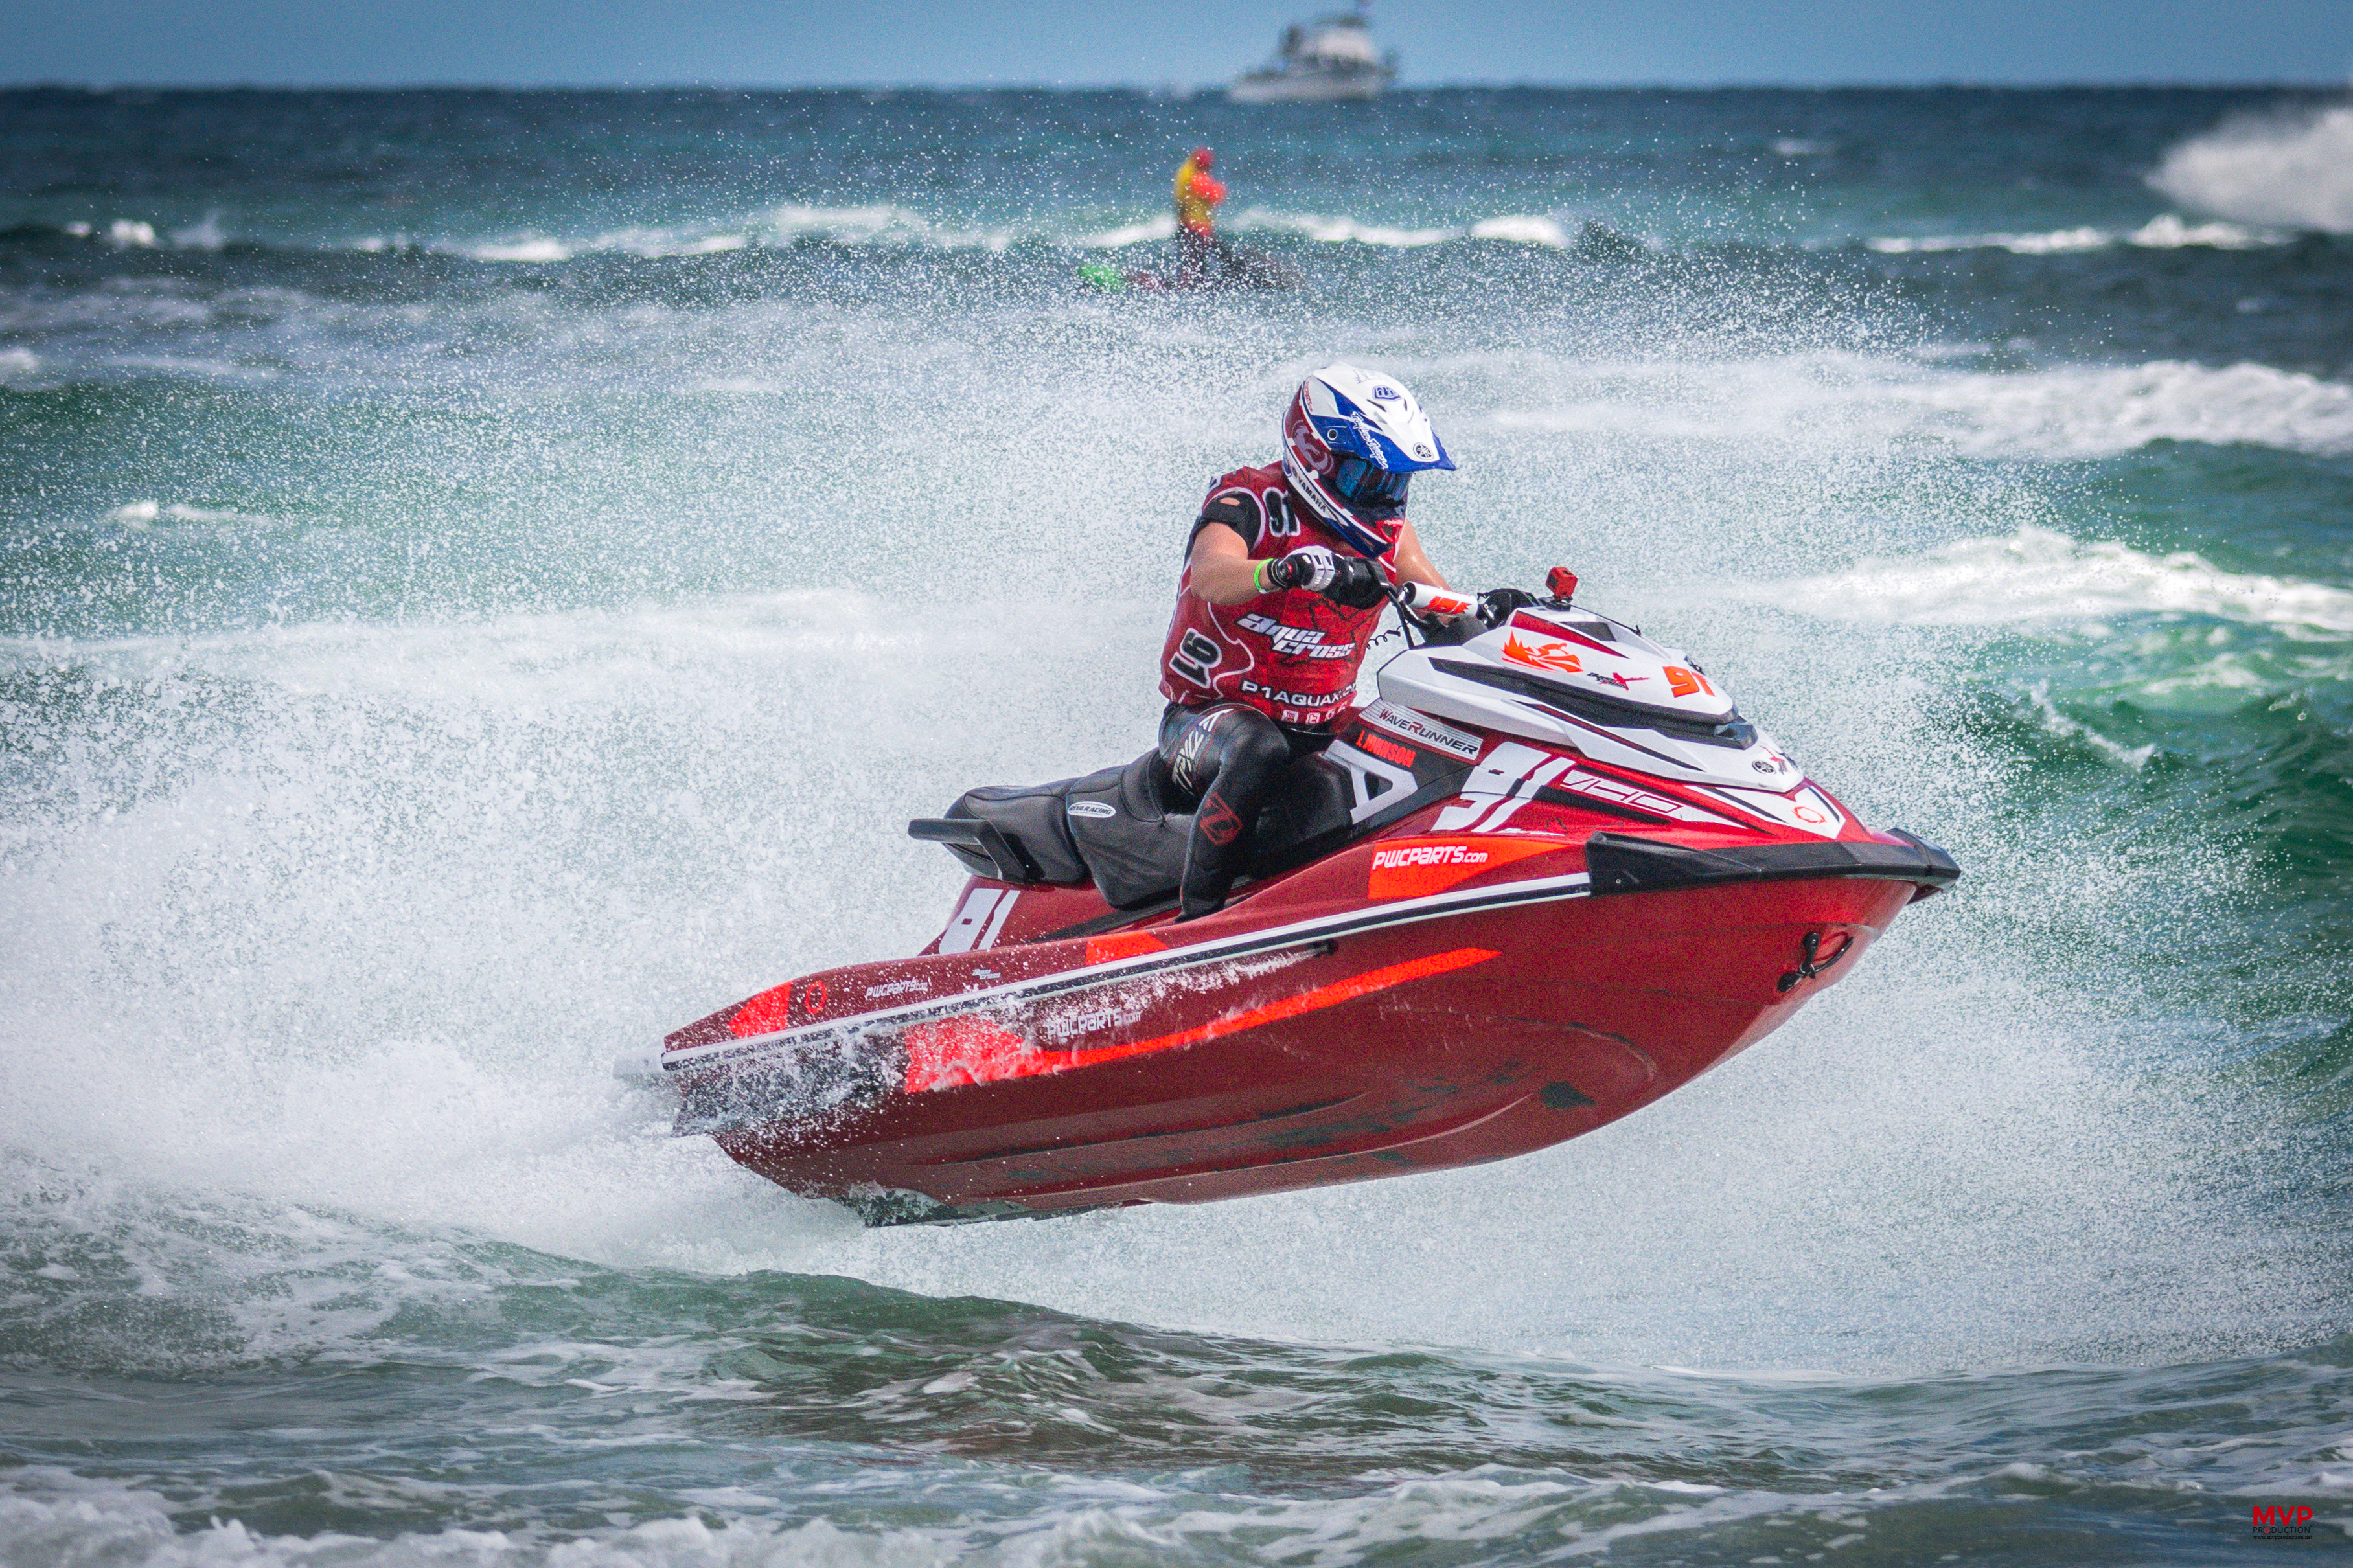
POLYGON ((2224 571, 2191 550, 2146 555, 2115 541, 2080 543, 2040 527, 1722 592, 1847 623, 2068 628, 2212 616, 2292 637, 2353 637, 2353 592, 2344 588, 2224 571))

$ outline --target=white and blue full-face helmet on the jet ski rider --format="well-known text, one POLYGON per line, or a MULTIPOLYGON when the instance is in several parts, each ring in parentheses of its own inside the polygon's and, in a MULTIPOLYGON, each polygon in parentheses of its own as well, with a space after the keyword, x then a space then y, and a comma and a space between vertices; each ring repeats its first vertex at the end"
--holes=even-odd
POLYGON ((1327 364, 1282 414, 1282 475, 1360 555, 1388 548, 1367 524, 1402 517, 1405 487, 1424 468, 1454 468, 1454 458, 1395 376, 1327 364))

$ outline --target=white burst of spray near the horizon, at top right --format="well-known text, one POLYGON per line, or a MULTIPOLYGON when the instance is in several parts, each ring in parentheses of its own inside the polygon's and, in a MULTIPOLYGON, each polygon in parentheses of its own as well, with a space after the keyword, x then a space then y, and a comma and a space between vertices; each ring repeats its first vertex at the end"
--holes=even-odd
POLYGON ((2172 148, 2148 183, 2242 223, 2353 233, 2353 106, 2224 125, 2172 148))

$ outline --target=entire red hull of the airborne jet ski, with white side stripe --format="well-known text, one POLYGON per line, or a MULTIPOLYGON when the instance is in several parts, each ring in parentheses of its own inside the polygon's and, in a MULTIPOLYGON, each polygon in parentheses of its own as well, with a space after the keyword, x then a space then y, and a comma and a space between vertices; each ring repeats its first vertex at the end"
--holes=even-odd
MULTIPOLYGON (((1485 1164, 1588 1133, 1762 1039, 1929 886, 1861 870, 1595 896, 1591 825, 1574 842, 1567 823, 1431 839, 1414 832, 1428 816, 1205 922, 1038 940, 1104 905, 1019 889, 993 947, 753 997, 671 1037, 699 1058, 673 1063, 680 1131, 871 1220, 1485 1164), (1398 844, 1482 865, 1379 870, 1398 844), (842 1023, 828 1034, 826 1018, 842 1023)), ((1673 842, 1711 837, 1729 835, 1673 842)), ((995 889, 1016 891, 974 879, 962 907, 995 889)))

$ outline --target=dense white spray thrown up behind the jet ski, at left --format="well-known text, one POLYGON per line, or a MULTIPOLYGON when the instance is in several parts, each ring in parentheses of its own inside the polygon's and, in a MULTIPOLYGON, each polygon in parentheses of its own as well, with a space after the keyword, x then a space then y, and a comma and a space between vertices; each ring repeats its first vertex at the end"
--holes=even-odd
MULTIPOLYGON (((986 701, 972 672, 1000 646, 1000 614, 1068 621, 1066 607, 1012 604, 913 621, 800 592, 78 644, 80 668, 198 708, 226 682, 259 726, 167 799, 78 823, 19 811, 0 830, 0 1039, 12 1041, 0 1147, 42 1147, 42 1126, 71 1126, 68 1164, 169 1190, 489 1225, 624 1262, 725 1267, 755 1248, 812 1267, 805 1244, 854 1222, 701 1140, 668 1138, 661 1107, 614 1084, 609 1063, 788 973, 922 945, 958 872, 887 825, 972 776, 1021 771, 958 759, 965 726, 939 708, 951 691, 962 693, 951 710, 986 701), (624 712, 638 717, 612 743, 633 755, 652 743, 673 762, 631 764, 635 804, 612 839, 595 825, 612 790, 593 757, 602 743, 579 745, 607 726, 593 715, 624 712), (315 729, 311 715, 336 717, 315 729), (892 764, 861 762, 852 731, 882 741, 892 764), (769 762, 713 773, 718 750, 751 733, 769 762), (779 759, 791 762, 779 771, 779 759), (779 820, 779 790, 802 802, 798 820, 779 820), (859 853, 838 860, 835 835, 859 853), (649 884, 624 863, 659 870, 649 884), (89 919, 118 896, 144 910, 129 940, 146 957, 136 976, 96 983, 85 966, 118 938, 92 943, 89 919), (515 952, 534 957, 496 957, 515 952), (619 994, 551 990, 560 971, 612 973, 619 952, 654 959, 652 985, 628 985, 619 1013, 607 1011, 619 994), (209 973, 200 994, 167 973, 181 964, 209 973), (379 1011, 386 985, 412 997, 398 1020, 379 1011), (14 1051, 35 1037, 89 1041, 96 1060, 80 1046, 14 1051)), ((1061 654, 1035 649, 1045 665, 1021 668, 1059 665, 1078 689, 1106 649, 1148 668, 1153 632, 1073 628, 1061 654)), ((0 665, 54 656, 0 644, 0 665)), ((1139 684, 1111 724, 1148 733, 1151 710, 1139 684)), ((1085 726, 1075 741, 1089 745, 1085 726)), ((1059 771, 1108 750, 1094 741, 1059 771)))

